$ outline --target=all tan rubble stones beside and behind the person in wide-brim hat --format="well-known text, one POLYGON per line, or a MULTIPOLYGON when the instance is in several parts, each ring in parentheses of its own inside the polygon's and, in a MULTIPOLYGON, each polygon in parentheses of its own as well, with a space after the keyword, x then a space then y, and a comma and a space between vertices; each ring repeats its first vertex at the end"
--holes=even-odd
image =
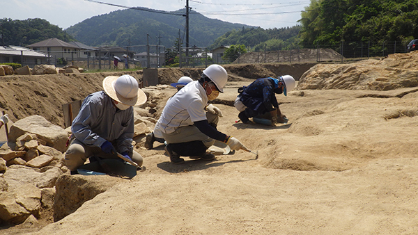
MULTIPOLYGON (((167 98, 161 90, 168 87, 143 89, 148 102, 134 107, 136 148, 142 147, 146 134, 153 131, 162 109, 157 104, 165 104, 160 99, 167 98)), ((8 143, 0 147, 0 225, 33 224, 42 217, 42 211, 49 211, 48 216, 53 213, 54 221, 61 220, 119 180, 111 177, 115 179, 104 184, 98 177, 70 176, 63 162, 70 132, 70 127, 63 129, 39 115, 18 120, 10 127, 8 143)))

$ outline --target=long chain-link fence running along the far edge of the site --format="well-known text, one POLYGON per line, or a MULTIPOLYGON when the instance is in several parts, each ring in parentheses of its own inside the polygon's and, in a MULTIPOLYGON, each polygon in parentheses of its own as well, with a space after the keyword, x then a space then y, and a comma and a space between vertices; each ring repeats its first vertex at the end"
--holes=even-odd
MULTIPOLYGON (((207 67, 215 61, 212 51, 205 47, 180 47, 178 67, 207 67)), ((47 63, 63 67, 77 65, 87 70, 122 70, 124 68, 155 68, 166 64, 165 47, 153 44, 128 47, 100 47, 79 51, 40 51, 47 55, 47 63), (48 59, 49 58, 49 59, 48 59), (118 60, 116 61, 116 58, 118 60)), ((408 52, 408 42, 338 42, 316 44, 310 48, 279 51, 251 51, 233 63, 323 63, 347 62, 385 57, 408 52)), ((29 65, 29 61, 26 61, 29 65)), ((36 63, 34 63, 36 64, 36 63)))

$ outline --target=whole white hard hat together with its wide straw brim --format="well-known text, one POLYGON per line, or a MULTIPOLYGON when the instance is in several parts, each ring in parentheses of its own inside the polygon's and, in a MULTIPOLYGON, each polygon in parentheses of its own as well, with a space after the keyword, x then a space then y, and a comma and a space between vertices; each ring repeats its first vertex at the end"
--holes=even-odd
POLYGON ((127 74, 107 76, 103 80, 103 88, 111 99, 125 105, 137 106, 146 102, 146 95, 139 89, 137 79, 127 74))

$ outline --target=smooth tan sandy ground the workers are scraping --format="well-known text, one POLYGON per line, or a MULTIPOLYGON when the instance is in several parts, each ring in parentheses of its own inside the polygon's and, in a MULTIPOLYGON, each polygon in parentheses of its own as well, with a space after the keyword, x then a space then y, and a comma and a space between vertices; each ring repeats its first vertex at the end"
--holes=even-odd
MULTIPOLYGON (((227 83, 219 99, 235 99, 237 88, 247 84, 227 83)), ((295 90, 277 95, 290 120, 279 127, 235 123, 233 106, 215 104, 224 114, 219 131, 258 151, 257 160, 240 150, 173 165, 162 144, 139 147, 146 170, 133 179, 39 231, 4 232, 417 234, 413 90, 295 90)))

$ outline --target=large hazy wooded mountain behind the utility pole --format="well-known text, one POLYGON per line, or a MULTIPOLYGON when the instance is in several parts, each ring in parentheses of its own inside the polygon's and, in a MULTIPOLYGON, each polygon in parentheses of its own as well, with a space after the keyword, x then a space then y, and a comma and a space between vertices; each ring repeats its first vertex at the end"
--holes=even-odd
MULTIPOLYGON (((185 10, 173 13, 184 14, 185 10)), ((207 47, 224 33, 242 27, 250 26, 210 19, 192 11, 189 14, 189 46, 207 47)), ((148 33, 149 44, 160 42, 168 48, 176 43, 179 29, 185 47, 185 17, 126 9, 85 19, 66 31, 79 42, 90 46, 146 44, 148 33)))

